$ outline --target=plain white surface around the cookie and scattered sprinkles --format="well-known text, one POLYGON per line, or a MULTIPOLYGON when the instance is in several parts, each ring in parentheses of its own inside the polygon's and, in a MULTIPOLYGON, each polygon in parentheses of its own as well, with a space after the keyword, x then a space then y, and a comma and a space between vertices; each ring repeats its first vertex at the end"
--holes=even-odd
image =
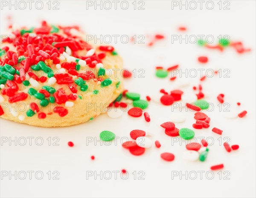
MULTIPOLYGON (((157 95, 160 88, 171 91, 178 88, 180 82, 190 82, 189 87, 183 88, 185 93, 193 93, 192 86, 199 84, 199 77, 186 79, 183 76, 175 82, 169 78, 157 79, 154 76, 155 66, 168 67, 179 64, 180 68, 212 68, 229 69, 230 78, 213 77, 202 82, 203 91, 208 93, 208 102, 212 102, 214 110, 207 112, 211 118, 208 129, 195 130, 195 137, 212 137, 213 144, 209 146, 209 155, 204 162, 187 162, 182 158, 186 150, 186 141, 174 142, 172 137, 166 136, 159 127, 158 119, 169 119, 172 107, 150 102, 147 109, 151 122, 146 123, 143 117, 132 118, 124 113, 119 119, 111 119, 106 114, 72 127, 40 128, 17 124, 7 120, 0 120, 0 135, 19 139, 20 137, 33 137, 32 145, 25 146, 14 143, 11 146, 1 141, 1 171, 42 171, 44 178, 38 180, 32 174, 24 180, 14 177, 5 177, 0 180, 1 197, 255 197, 255 1, 229 1, 230 10, 219 9, 217 1, 212 10, 203 6, 203 9, 180 10, 172 9, 171 1, 144 1, 144 10, 134 10, 129 2, 129 8, 123 10, 99 9, 92 7, 86 9, 86 1, 59 1, 59 10, 49 10, 46 2, 44 9, 32 10, 26 8, 15 10, 12 7, 1 8, 1 34, 4 34, 8 21, 8 14, 12 15, 13 22, 19 25, 37 25, 41 20, 51 24, 80 25, 88 34, 92 35, 154 35, 162 33, 166 40, 159 42, 152 48, 143 44, 123 44, 120 41, 113 43, 118 53, 124 59, 124 67, 129 70, 144 69, 143 78, 134 77, 125 80, 125 88, 132 92, 146 95, 157 95), (180 33, 177 27, 184 25, 188 31, 180 33), (213 35, 217 41, 219 35, 229 35, 231 40, 244 42, 245 47, 252 48, 250 53, 238 54, 233 48, 224 52, 208 50, 197 44, 172 44, 172 35, 213 35), (198 63, 198 56, 206 55, 209 62, 206 65, 198 63), (225 102, 230 104, 230 111, 234 113, 247 110, 244 118, 227 119, 220 112, 216 96, 225 94, 225 102), (236 102, 241 102, 237 107, 236 102), (212 133, 212 127, 219 127, 224 132, 222 136, 212 133), (153 134, 152 140, 159 140, 160 149, 154 146, 147 149, 143 156, 132 156, 128 150, 122 148, 120 139, 129 137, 134 129, 142 129, 153 134), (99 140, 102 130, 111 130, 119 139, 112 141, 111 145, 100 145, 100 142, 88 143, 87 138, 99 140), (44 144, 38 146, 35 139, 41 137, 44 144), (49 146, 47 138, 58 137, 59 146, 49 146), (227 153, 220 144, 230 138, 230 144, 239 144, 237 151, 227 153), (67 142, 73 141, 75 146, 68 147, 67 142), (160 158, 160 153, 171 152, 175 154, 175 161, 166 162, 160 158), (96 159, 92 161, 90 156, 96 159), (224 169, 215 171, 214 178, 209 171, 215 164, 224 163, 224 169), (126 169, 128 179, 124 180, 113 171, 126 169), (59 180, 48 179, 47 172, 58 171, 59 180), (107 180, 108 174, 96 180, 93 177, 86 179, 86 171, 110 171, 112 178, 107 180), (137 178, 134 179, 134 171, 137 178), (139 171, 145 174, 138 179, 139 171), (186 171, 188 171, 186 173, 186 171), (195 172, 191 172, 195 171, 195 172), (200 173, 202 179, 200 179, 200 173), (224 172, 227 171, 227 172, 224 172), (180 178, 174 173, 185 174, 180 178), (194 173, 197 178, 193 180, 194 173), (227 176, 227 174, 229 174, 227 176), (221 178, 220 178, 221 175, 221 178), (229 179, 224 179, 224 176, 229 179), (208 176, 208 178, 207 178, 208 176)), ((183 2, 185 3, 185 1, 183 2)), ((205 5, 205 4, 204 4, 205 5)), ((199 3, 198 3, 199 6, 199 3)), ((145 39, 145 42, 148 40, 145 39)), ((215 42, 215 43, 216 43, 215 42)), ((186 122, 176 124, 178 128, 189 127, 195 122, 193 112, 183 111, 186 122)), ((27 139, 28 141, 29 139, 27 139)), ((198 140, 198 139, 197 139, 198 140)), ((51 142, 53 144, 53 141, 51 142)), ((28 173, 27 173, 28 174, 28 173)))

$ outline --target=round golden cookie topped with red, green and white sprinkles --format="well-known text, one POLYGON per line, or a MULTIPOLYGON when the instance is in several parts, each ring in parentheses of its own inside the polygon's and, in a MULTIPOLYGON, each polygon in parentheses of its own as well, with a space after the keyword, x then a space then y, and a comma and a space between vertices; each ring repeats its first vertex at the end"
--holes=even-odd
POLYGON ((112 46, 86 42, 77 26, 43 21, 37 28, 10 26, 6 35, 1 118, 41 127, 80 124, 99 116, 123 91, 121 57, 112 46))

